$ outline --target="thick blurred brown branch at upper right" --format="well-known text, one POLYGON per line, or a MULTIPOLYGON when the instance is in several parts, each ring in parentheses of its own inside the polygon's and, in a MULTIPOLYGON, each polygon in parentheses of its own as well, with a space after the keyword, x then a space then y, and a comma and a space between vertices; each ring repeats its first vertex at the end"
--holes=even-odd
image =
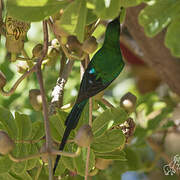
POLYGON ((165 47, 164 31, 154 38, 145 35, 143 27, 138 23, 138 15, 143 8, 144 5, 128 8, 125 25, 143 51, 143 60, 153 67, 174 92, 180 95, 180 61, 172 57, 169 49, 165 47))

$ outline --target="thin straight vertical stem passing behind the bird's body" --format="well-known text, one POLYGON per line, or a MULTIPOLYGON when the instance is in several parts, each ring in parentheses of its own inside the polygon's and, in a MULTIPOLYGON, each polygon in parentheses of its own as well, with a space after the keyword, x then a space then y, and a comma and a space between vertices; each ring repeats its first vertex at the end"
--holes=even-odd
MULTIPOLYGON (((89 56, 86 58, 85 65, 87 67, 87 64, 89 63, 89 56)), ((89 126, 92 127, 92 98, 89 98, 89 126)), ((86 169, 85 169, 85 180, 88 179, 89 174, 89 158, 90 158, 90 145, 87 148, 87 156, 86 156, 86 169)))

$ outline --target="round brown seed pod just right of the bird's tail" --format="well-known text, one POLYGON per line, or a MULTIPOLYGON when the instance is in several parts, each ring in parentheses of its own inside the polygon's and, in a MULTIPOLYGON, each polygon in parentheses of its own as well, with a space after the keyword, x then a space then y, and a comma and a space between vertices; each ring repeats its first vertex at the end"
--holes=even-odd
POLYGON ((80 147, 88 147, 93 140, 93 133, 89 125, 83 125, 78 130, 74 139, 75 143, 80 147))

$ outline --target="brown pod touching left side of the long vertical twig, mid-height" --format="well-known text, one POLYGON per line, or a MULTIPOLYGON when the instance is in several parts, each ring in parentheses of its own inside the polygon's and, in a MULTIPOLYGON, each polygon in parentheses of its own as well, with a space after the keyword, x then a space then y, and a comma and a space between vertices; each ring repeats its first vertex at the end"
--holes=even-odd
POLYGON ((42 96, 39 89, 31 89, 29 91, 29 100, 34 110, 42 110, 42 96))

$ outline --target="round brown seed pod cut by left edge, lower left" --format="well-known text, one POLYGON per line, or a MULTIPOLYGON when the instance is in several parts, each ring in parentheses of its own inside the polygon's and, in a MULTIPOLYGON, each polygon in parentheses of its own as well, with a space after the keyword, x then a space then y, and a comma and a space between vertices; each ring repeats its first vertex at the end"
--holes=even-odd
POLYGON ((4 131, 0 131, 0 153, 6 155, 14 148, 13 140, 4 131))

